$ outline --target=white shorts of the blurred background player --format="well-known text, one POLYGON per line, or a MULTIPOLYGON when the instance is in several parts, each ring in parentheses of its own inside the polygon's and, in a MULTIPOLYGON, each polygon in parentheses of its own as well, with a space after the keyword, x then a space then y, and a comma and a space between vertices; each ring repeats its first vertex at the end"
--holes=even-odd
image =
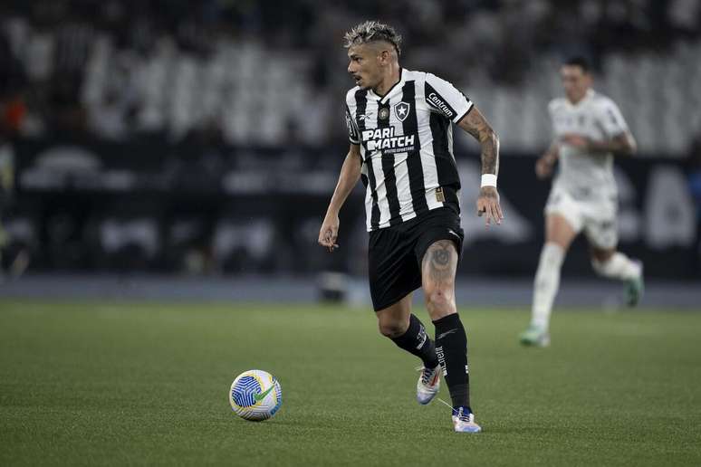
POLYGON ((614 200, 576 200, 559 186, 552 186, 545 215, 560 214, 577 234, 584 231, 589 243, 601 249, 615 248, 619 243, 614 200))

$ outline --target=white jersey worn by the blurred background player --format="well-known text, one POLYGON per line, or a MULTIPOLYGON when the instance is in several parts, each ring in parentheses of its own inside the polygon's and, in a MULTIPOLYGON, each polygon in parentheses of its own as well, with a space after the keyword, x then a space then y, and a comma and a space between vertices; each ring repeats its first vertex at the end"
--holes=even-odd
MULTIPOLYGON (((573 133, 602 141, 628 131, 616 103, 593 90, 587 91, 576 104, 565 98, 552 100, 548 110, 555 138, 573 133)), ((613 155, 590 153, 562 144, 558 174, 553 183, 555 188, 568 192, 576 200, 616 199, 613 155)))

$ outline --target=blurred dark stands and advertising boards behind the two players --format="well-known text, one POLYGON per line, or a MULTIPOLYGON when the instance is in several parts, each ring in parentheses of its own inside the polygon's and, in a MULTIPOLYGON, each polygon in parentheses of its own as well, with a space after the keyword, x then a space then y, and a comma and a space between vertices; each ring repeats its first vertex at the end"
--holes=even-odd
MULTIPOLYGON (((378 18, 404 34, 403 66, 453 81, 502 141, 506 218, 485 230, 478 147, 456 136, 461 273, 533 275, 549 190, 534 157, 558 63, 581 53, 639 140, 617 159, 621 250, 648 277, 697 280, 699 14, 683 1, 4 2, 3 262, 24 251, 36 272, 364 275, 360 187, 341 250, 316 238, 348 144, 342 34, 378 18)), ((582 239, 563 272, 591 274, 582 239)))

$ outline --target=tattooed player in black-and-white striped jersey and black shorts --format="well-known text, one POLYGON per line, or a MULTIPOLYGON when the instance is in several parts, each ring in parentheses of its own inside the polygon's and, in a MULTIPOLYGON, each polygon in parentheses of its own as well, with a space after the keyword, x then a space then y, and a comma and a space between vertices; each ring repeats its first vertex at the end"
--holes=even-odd
POLYGON ((460 179, 453 154, 453 124, 482 147, 482 187, 476 201, 485 224, 503 215, 496 191, 499 140, 482 113, 449 82, 399 66, 401 37, 368 21, 345 36, 356 86, 346 95, 351 148, 319 232, 319 243, 338 245, 339 211, 361 178, 366 186, 370 296, 379 332, 421 358, 419 404, 446 380, 456 432, 477 433, 470 405, 467 338, 456 311, 455 278, 462 252, 460 179), (436 340, 411 313, 422 288, 436 340))

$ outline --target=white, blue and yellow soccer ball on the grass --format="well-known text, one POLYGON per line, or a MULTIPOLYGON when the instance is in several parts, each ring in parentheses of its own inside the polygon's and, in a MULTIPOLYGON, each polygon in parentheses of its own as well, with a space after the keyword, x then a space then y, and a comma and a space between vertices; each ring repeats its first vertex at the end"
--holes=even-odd
POLYGON ((241 418, 260 422, 275 415, 283 404, 283 389, 267 371, 248 370, 231 384, 229 404, 241 418))

